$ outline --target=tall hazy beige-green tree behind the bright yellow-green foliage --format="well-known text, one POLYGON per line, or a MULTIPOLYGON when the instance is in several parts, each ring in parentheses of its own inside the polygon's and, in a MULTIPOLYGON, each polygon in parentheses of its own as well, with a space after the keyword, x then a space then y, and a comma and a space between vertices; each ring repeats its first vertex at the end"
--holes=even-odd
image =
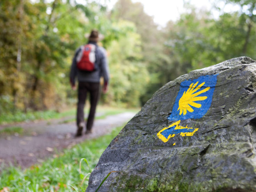
POLYGON ((146 67, 150 74, 148 83, 143 84, 145 92, 140 94, 140 103, 143 105, 154 92, 168 82, 166 76, 162 76, 164 66, 168 68, 166 63, 169 62, 169 57, 164 53, 164 33, 157 29, 153 17, 144 12, 143 5, 132 3, 131 0, 119 0, 112 11, 112 18, 133 22, 137 33, 140 34, 141 65, 146 67))

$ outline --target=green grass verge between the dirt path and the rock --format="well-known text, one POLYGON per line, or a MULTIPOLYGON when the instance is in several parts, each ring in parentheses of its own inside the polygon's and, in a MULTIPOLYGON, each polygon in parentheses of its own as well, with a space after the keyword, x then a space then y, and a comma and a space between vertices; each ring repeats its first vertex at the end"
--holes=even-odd
POLYGON ((4 188, 13 192, 85 191, 89 175, 84 181, 83 179, 90 172, 90 168, 96 166, 103 151, 122 128, 117 127, 111 134, 66 149, 59 157, 25 170, 14 166, 4 169, 2 164, 0 191, 4 188), (85 161, 81 161, 81 173, 79 173, 79 163, 82 158, 86 158, 89 167, 85 161))

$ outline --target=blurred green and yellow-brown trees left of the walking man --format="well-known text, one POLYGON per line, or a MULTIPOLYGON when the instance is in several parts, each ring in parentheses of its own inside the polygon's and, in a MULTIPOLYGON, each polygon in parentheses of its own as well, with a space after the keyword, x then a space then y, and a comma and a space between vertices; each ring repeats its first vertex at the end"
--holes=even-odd
POLYGON ((58 108, 66 101, 74 50, 97 24, 86 19, 96 14, 89 6, 72 2, 1 1, 0 112, 6 102, 9 110, 26 111, 58 108))

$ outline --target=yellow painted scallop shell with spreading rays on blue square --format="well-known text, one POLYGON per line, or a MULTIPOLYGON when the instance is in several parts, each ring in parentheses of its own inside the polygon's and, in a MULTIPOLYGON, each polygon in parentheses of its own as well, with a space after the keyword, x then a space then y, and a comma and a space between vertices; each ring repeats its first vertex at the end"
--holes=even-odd
POLYGON ((178 110, 180 109, 180 115, 182 114, 182 112, 183 112, 183 115, 186 115, 187 110, 192 113, 194 111, 192 107, 196 107, 196 108, 202 107, 201 104, 196 103, 194 101, 201 101, 201 100, 207 99, 207 96, 203 96, 203 97, 197 97, 197 96, 200 95, 201 93, 207 92, 210 89, 210 87, 206 87, 205 89, 199 92, 196 92, 205 84, 205 82, 201 83, 196 87, 197 84, 198 84, 198 81, 195 84, 191 83, 189 85, 188 90, 186 92, 184 91, 183 95, 181 96, 179 100, 179 108, 178 108, 178 110))

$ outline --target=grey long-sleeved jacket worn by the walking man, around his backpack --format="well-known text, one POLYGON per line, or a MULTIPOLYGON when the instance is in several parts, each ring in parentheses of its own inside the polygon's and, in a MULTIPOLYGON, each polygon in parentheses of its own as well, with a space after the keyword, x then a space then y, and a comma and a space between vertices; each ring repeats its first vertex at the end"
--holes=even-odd
MULTIPOLYGON (((97 45, 97 43, 95 42, 89 41, 89 43, 97 45)), ((78 48, 76 50, 75 56, 72 61, 70 75, 69 75, 70 83, 72 85, 75 84, 76 76, 78 77, 79 82, 99 83, 100 77, 103 76, 104 83, 108 84, 109 72, 108 72, 108 61, 106 56, 106 50, 103 47, 97 46, 97 49, 95 51, 95 56, 96 56, 95 65, 99 66, 99 69, 92 72, 82 71, 76 67, 76 56, 80 50, 81 48, 78 48)))

